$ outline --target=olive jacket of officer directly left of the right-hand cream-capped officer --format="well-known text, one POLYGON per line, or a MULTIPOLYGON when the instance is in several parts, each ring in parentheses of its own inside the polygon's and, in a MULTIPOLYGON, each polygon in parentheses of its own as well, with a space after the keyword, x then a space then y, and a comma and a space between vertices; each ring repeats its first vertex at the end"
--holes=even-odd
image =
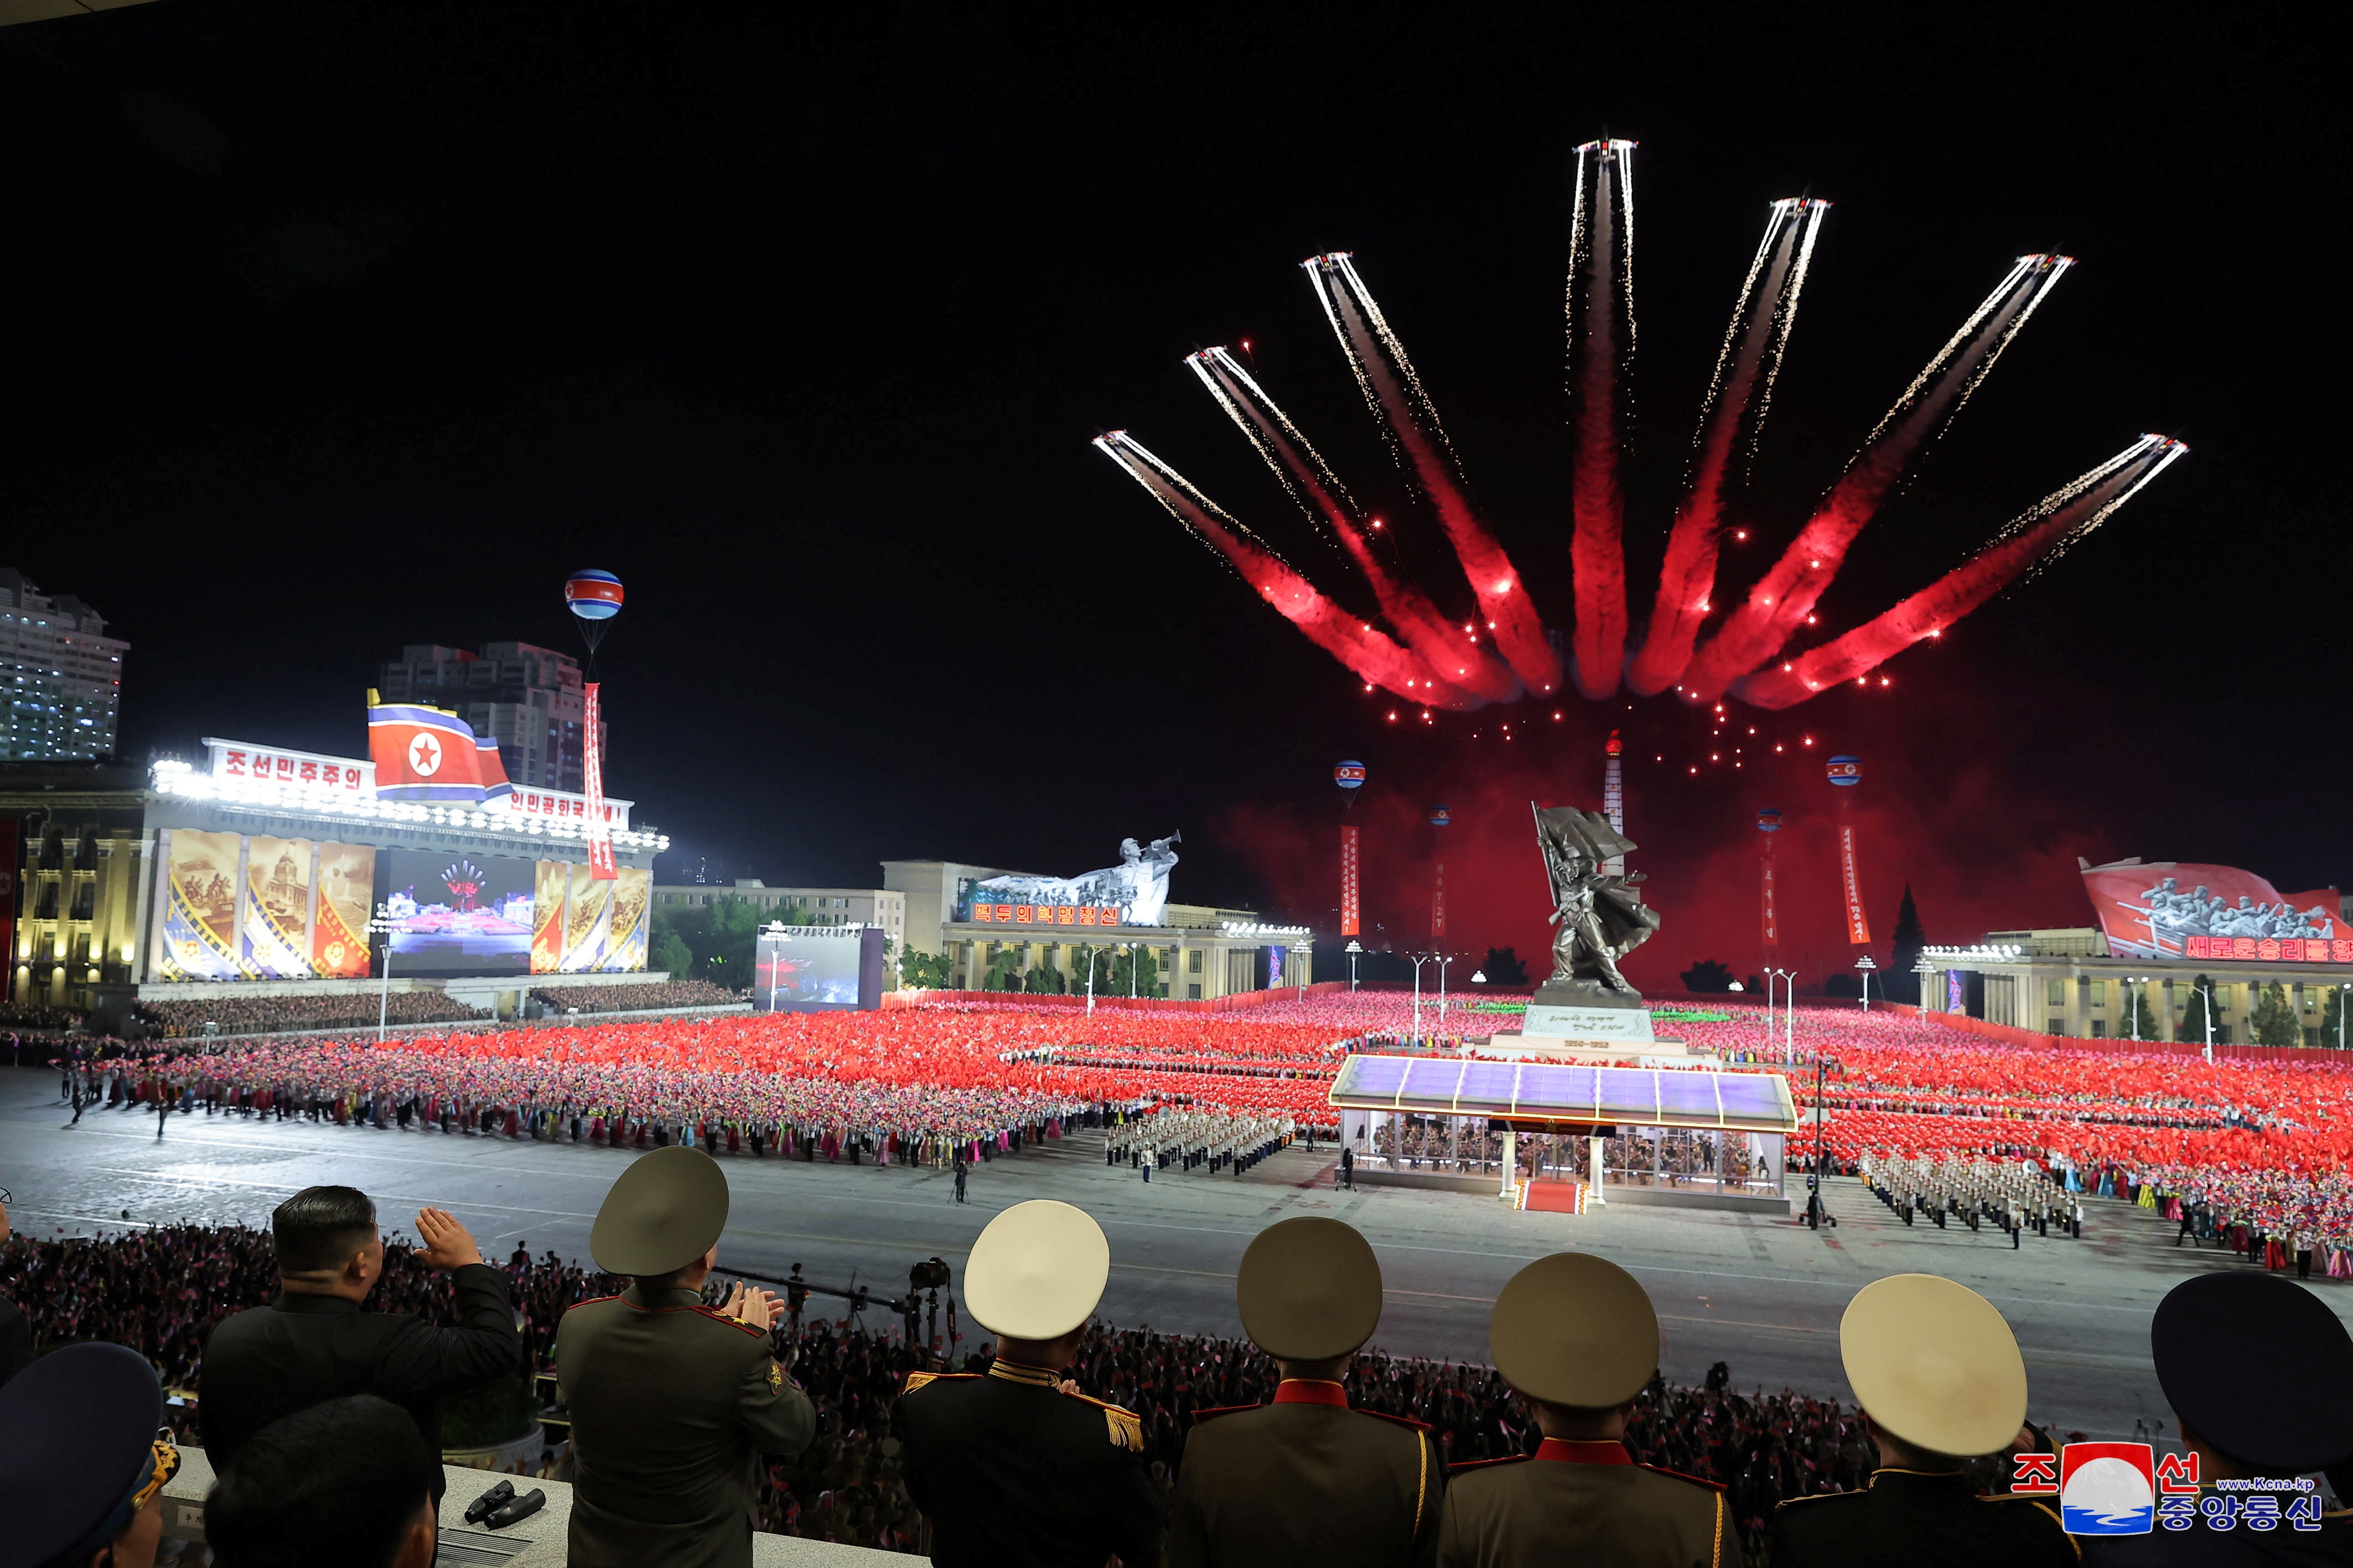
POLYGON ((1635 1465, 1624 1443, 1551 1436, 1532 1458, 1457 1465, 1438 1530, 1438 1568, 1725 1568, 1737 1559, 1722 1488, 1635 1465))

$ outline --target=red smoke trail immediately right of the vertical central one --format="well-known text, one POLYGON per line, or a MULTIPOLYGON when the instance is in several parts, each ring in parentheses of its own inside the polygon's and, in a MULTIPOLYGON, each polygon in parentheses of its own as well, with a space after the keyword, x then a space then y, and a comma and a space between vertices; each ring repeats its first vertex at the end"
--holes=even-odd
POLYGON ((1708 383, 1708 402, 1699 416, 1692 489, 1666 538, 1666 564, 1659 567, 1659 602, 1649 616, 1649 635, 1626 668, 1626 686, 1638 696, 1666 691, 1682 679, 1685 665, 1692 663, 1692 644, 1699 639, 1699 628, 1708 618, 1715 595, 1715 552, 1725 527, 1725 473, 1734 449, 1741 447, 1741 433, 1746 430, 1746 447, 1753 451, 1758 430, 1765 425, 1772 383, 1781 369, 1781 355, 1788 350, 1788 331, 1798 320, 1798 292, 1805 289, 1805 270, 1814 259, 1814 235, 1828 209, 1828 202, 1809 197, 1774 202, 1758 254, 1748 261, 1748 277, 1732 308, 1732 324, 1725 327, 1725 346, 1715 355, 1715 378, 1708 383), (1762 287, 1758 287, 1760 277, 1762 287), (1753 418, 1751 409, 1755 409, 1753 418))

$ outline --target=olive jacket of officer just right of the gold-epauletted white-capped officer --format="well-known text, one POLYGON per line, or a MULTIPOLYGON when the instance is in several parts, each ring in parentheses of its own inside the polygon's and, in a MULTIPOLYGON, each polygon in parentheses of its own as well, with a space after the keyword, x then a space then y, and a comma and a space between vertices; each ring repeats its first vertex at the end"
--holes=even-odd
POLYGON ((1431 1568, 1447 1467, 1428 1427, 1351 1410, 1337 1382, 1202 1410, 1169 1507, 1169 1568, 1431 1568))

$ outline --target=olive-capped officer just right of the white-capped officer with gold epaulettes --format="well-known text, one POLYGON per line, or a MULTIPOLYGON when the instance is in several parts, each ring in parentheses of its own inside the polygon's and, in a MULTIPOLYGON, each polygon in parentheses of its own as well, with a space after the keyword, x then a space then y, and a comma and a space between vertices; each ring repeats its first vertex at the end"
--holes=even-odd
POLYGON ((1275 1359, 1273 1403, 1202 1410, 1169 1509, 1169 1568, 1428 1568, 1445 1460, 1428 1429, 1351 1410, 1341 1378, 1381 1321, 1381 1265, 1353 1225, 1282 1220, 1242 1253, 1235 1302, 1275 1359))

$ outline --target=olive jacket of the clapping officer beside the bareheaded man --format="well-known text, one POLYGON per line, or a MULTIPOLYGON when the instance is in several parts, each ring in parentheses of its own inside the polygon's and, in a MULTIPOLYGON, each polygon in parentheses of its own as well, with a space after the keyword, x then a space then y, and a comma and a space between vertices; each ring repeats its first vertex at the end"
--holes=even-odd
POLYGON ((751 1568, 758 1455, 798 1455, 816 1408, 767 1331, 694 1291, 638 1286, 555 1328, 572 1406, 569 1568, 751 1568))

